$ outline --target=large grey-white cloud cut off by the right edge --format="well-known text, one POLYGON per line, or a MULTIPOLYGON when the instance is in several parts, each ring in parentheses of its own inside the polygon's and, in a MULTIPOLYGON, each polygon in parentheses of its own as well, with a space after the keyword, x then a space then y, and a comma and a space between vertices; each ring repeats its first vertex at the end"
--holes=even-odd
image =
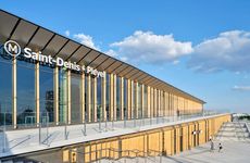
POLYGON ((250 33, 230 30, 196 46, 188 66, 205 73, 250 71, 250 33))

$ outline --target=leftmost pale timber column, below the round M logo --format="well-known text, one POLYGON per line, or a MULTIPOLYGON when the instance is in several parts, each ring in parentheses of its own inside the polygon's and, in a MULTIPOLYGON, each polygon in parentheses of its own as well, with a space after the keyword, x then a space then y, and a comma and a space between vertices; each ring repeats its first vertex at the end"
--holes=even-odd
POLYGON ((16 128, 16 59, 12 61, 12 124, 16 128))

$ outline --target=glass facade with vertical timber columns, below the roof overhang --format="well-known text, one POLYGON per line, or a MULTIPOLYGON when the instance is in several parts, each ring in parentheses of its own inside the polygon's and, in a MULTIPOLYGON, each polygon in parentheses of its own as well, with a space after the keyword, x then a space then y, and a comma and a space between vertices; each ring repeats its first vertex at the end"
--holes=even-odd
POLYGON ((95 77, 22 55, 13 60, 3 51, 0 74, 0 125, 17 128, 155 117, 195 108, 193 101, 182 98, 187 104, 178 104, 177 96, 152 87, 148 95, 148 86, 114 74, 95 77))

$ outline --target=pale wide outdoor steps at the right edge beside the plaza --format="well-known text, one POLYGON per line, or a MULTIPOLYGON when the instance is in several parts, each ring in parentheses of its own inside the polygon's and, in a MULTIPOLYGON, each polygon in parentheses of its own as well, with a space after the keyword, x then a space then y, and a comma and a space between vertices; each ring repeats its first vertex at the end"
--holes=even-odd
POLYGON ((215 140, 249 141, 250 130, 246 123, 228 122, 224 123, 215 136, 215 140))

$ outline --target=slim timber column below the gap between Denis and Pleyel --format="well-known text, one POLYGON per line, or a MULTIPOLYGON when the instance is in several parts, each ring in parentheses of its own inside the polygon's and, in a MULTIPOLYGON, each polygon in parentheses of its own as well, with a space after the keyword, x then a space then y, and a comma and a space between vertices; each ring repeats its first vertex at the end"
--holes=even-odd
POLYGON ((80 117, 82 123, 85 123, 85 74, 80 75, 80 117))

